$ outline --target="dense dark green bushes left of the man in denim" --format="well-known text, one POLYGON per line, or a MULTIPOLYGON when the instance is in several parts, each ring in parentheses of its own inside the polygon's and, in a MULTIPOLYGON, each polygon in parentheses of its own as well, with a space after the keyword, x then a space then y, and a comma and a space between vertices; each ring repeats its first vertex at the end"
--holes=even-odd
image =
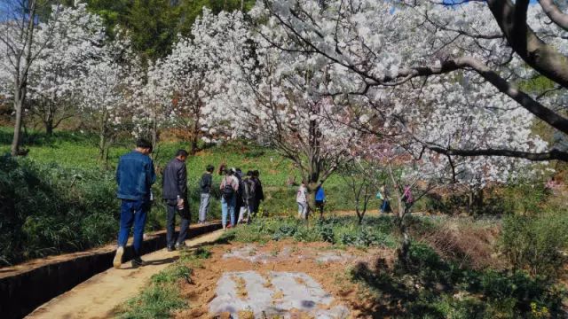
POLYGON ((106 244, 118 229, 113 174, 0 157, 0 264, 106 244))

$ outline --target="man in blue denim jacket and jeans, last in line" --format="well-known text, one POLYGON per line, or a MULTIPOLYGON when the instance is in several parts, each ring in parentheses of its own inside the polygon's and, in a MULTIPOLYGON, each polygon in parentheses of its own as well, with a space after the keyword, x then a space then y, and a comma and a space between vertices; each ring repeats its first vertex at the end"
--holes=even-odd
POLYGON ((122 200, 122 203, 118 248, 113 261, 114 268, 120 268, 122 265, 122 254, 132 226, 134 226, 132 267, 137 268, 144 265, 144 261, 140 258, 140 249, 144 239, 146 216, 150 209, 150 188, 156 181, 154 162, 148 156, 150 153, 152 153, 152 144, 140 139, 136 143, 136 149, 122 155, 116 167, 117 197, 122 200))

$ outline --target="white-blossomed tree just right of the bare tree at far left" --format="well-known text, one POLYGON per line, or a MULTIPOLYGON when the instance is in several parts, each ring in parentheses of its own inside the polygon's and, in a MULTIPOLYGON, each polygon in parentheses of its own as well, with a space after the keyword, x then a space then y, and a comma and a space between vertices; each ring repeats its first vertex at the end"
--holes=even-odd
POLYGON ((30 111, 48 136, 61 121, 75 116, 77 82, 102 55, 105 28, 99 16, 87 12, 86 4, 65 7, 38 40, 47 43, 30 68, 30 111), (49 36, 51 39, 43 39, 49 36))

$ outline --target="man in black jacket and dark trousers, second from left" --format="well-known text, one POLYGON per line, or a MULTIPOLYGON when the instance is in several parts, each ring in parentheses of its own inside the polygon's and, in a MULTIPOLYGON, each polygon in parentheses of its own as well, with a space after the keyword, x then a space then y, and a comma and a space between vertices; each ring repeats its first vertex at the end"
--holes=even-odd
POLYGON ((189 203, 187 202, 187 168, 185 167, 185 159, 187 159, 187 152, 185 150, 177 151, 176 158, 170 160, 170 163, 168 163, 162 173, 162 197, 166 202, 168 213, 166 221, 168 234, 166 238, 169 252, 173 251, 174 248, 185 246, 185 237, 187 237, 187 230, 189 229, 190 215, 189 203), (176 212, 181 217, 181 225, 179 236, 174 245, 176 212))

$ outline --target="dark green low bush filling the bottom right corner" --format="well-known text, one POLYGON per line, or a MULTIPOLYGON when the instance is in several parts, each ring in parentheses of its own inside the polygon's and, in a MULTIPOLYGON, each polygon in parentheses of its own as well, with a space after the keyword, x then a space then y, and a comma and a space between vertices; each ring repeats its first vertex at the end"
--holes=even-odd
MULTIPOLYGON (((384 316, 402 318, 560 317, 565 297, 559 286, 524 272, 460 268, 429 245, 413 243, 410 263, 370 269, 359 263, 351 279, 375 293, 384 316)), ((371 315, 371 314, 369 314, 371 315)))

